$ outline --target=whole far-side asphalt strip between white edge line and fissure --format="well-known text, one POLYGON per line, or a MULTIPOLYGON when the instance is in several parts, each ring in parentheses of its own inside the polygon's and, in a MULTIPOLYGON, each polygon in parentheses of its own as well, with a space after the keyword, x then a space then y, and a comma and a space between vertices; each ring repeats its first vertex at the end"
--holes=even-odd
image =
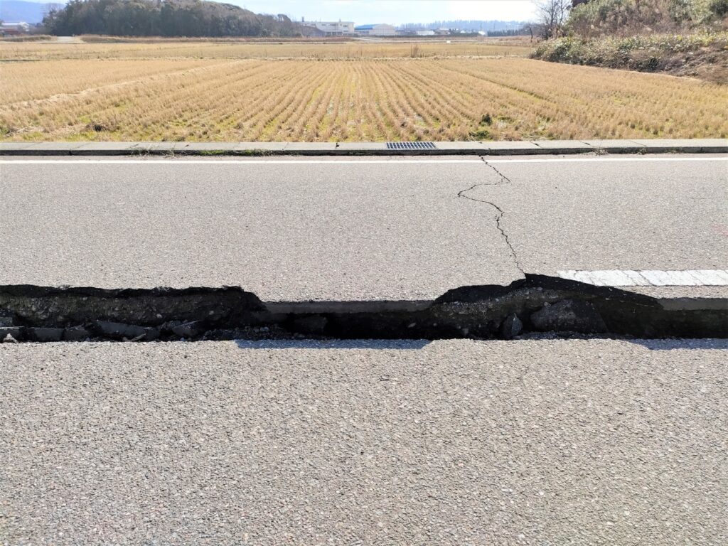
POLYGON ((522 272, 725 269, 727 164, 704 158, 9 160, 0 284, 427 300, 522 272))

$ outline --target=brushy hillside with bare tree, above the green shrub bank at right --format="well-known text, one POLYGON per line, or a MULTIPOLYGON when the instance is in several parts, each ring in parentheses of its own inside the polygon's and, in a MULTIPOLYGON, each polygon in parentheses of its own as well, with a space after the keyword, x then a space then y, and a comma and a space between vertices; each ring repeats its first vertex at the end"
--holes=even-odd
POLYGON ((567 34, 633 36, 721 28, 728 0, 540 0, 537 12, 545 39, 567 34))

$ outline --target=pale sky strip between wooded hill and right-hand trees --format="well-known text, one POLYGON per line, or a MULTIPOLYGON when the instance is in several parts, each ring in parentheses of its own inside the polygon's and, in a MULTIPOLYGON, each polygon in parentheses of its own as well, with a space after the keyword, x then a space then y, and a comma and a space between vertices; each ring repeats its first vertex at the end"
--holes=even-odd
POLYGON ((285 13, 295 20, 431 23, 454 19, 531 20, 532 0, 223 0, 256 13, 285 13))

